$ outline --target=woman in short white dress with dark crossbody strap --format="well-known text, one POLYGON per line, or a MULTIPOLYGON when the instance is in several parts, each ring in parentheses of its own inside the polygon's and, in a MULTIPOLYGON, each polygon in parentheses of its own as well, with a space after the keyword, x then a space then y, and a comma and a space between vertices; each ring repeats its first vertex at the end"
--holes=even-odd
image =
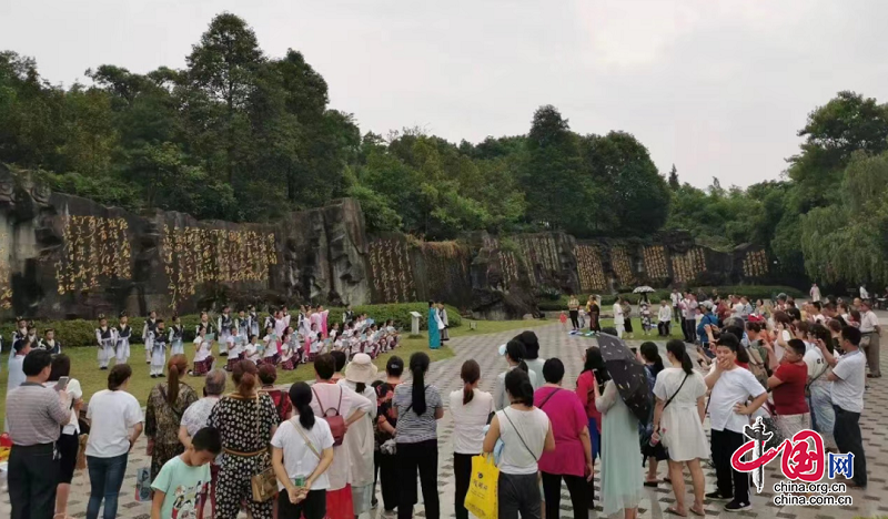
POLYGON ((690 470, 694 485, 694 506, 690 511, 704 516, 703 508, 706 480, 703 475, 700 459, 708 459, 709 444, 703 430, 706 417, 706 381, 694 372, 694 364, 682 340, 669 340, 666 344, 666 359, 670 366, 657 375, 654 396, 657 399, 654 408, 654 436, 669 455, 669 477, 675 506, 670 511, 686 516, 685 478, 683 465, 690 470))

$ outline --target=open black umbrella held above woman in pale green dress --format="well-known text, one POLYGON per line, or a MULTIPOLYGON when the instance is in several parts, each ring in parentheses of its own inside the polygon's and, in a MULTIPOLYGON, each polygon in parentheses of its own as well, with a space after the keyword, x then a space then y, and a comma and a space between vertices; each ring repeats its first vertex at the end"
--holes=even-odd
POLYGON ((617 386, 619 397, 638 418, 642 425, 650 421, 650 388, 647 385, 647 373, 623 339, 613 335, 598 336, 598 346, 607 366, 607 373, 617 386))

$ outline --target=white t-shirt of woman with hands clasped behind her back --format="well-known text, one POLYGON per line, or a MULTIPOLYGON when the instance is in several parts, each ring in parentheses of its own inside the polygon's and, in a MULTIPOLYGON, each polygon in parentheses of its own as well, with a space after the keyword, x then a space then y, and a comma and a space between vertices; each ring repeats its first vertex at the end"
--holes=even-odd
MULTIPOLYGON (((324 449, 333 447, 333 434, 330 431, 330 425, 327 425, 326 420, 315 418, 311 430, 302 427, 302 424, 299 423, 299 416, 281 424, 271 439, 271 445, 284 451, 284 468, 290 479, 307 478, 321 461, 305 444, 305 438, 302 437, 296 427, 305 434, 305 437, 309 438, 319 455, 323 456, 324 449)), ((314 480, 311 490, 326 490, 329 488, 330 477, 324 471, 314 480)), ((284 489, 280 481, 278 482, 278 489, 284 489)))

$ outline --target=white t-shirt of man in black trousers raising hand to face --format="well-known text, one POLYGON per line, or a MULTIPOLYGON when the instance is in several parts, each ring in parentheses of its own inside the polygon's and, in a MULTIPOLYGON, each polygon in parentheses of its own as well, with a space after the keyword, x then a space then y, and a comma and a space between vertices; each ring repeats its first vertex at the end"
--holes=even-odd
MULTIPOLYGON (((715 372, 715 363, 709 369, 709 373, 713 372, 715 372)), ((723 372, 709 396, 709 423, 713 430, 727 429, 743 432, 744 426, 749 425, 749 417, 738 415, 734 410, 734 406, 745 404, 749 398, 755 398, 763 393, 765 393, 765 388, 748 369, 735 367, 723 372)))

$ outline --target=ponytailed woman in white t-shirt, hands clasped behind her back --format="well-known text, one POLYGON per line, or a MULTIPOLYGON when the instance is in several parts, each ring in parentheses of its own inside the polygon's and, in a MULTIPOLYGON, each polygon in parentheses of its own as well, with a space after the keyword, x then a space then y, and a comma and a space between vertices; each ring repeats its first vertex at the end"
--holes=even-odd
POLYGON ((305 383, 290 386, 296 416, 284 421, 271 440, 272 466, 278 476, 278 517, 326 517, 326 469, 333 462, 333 435, 311 407, 312 390, 305 383))

